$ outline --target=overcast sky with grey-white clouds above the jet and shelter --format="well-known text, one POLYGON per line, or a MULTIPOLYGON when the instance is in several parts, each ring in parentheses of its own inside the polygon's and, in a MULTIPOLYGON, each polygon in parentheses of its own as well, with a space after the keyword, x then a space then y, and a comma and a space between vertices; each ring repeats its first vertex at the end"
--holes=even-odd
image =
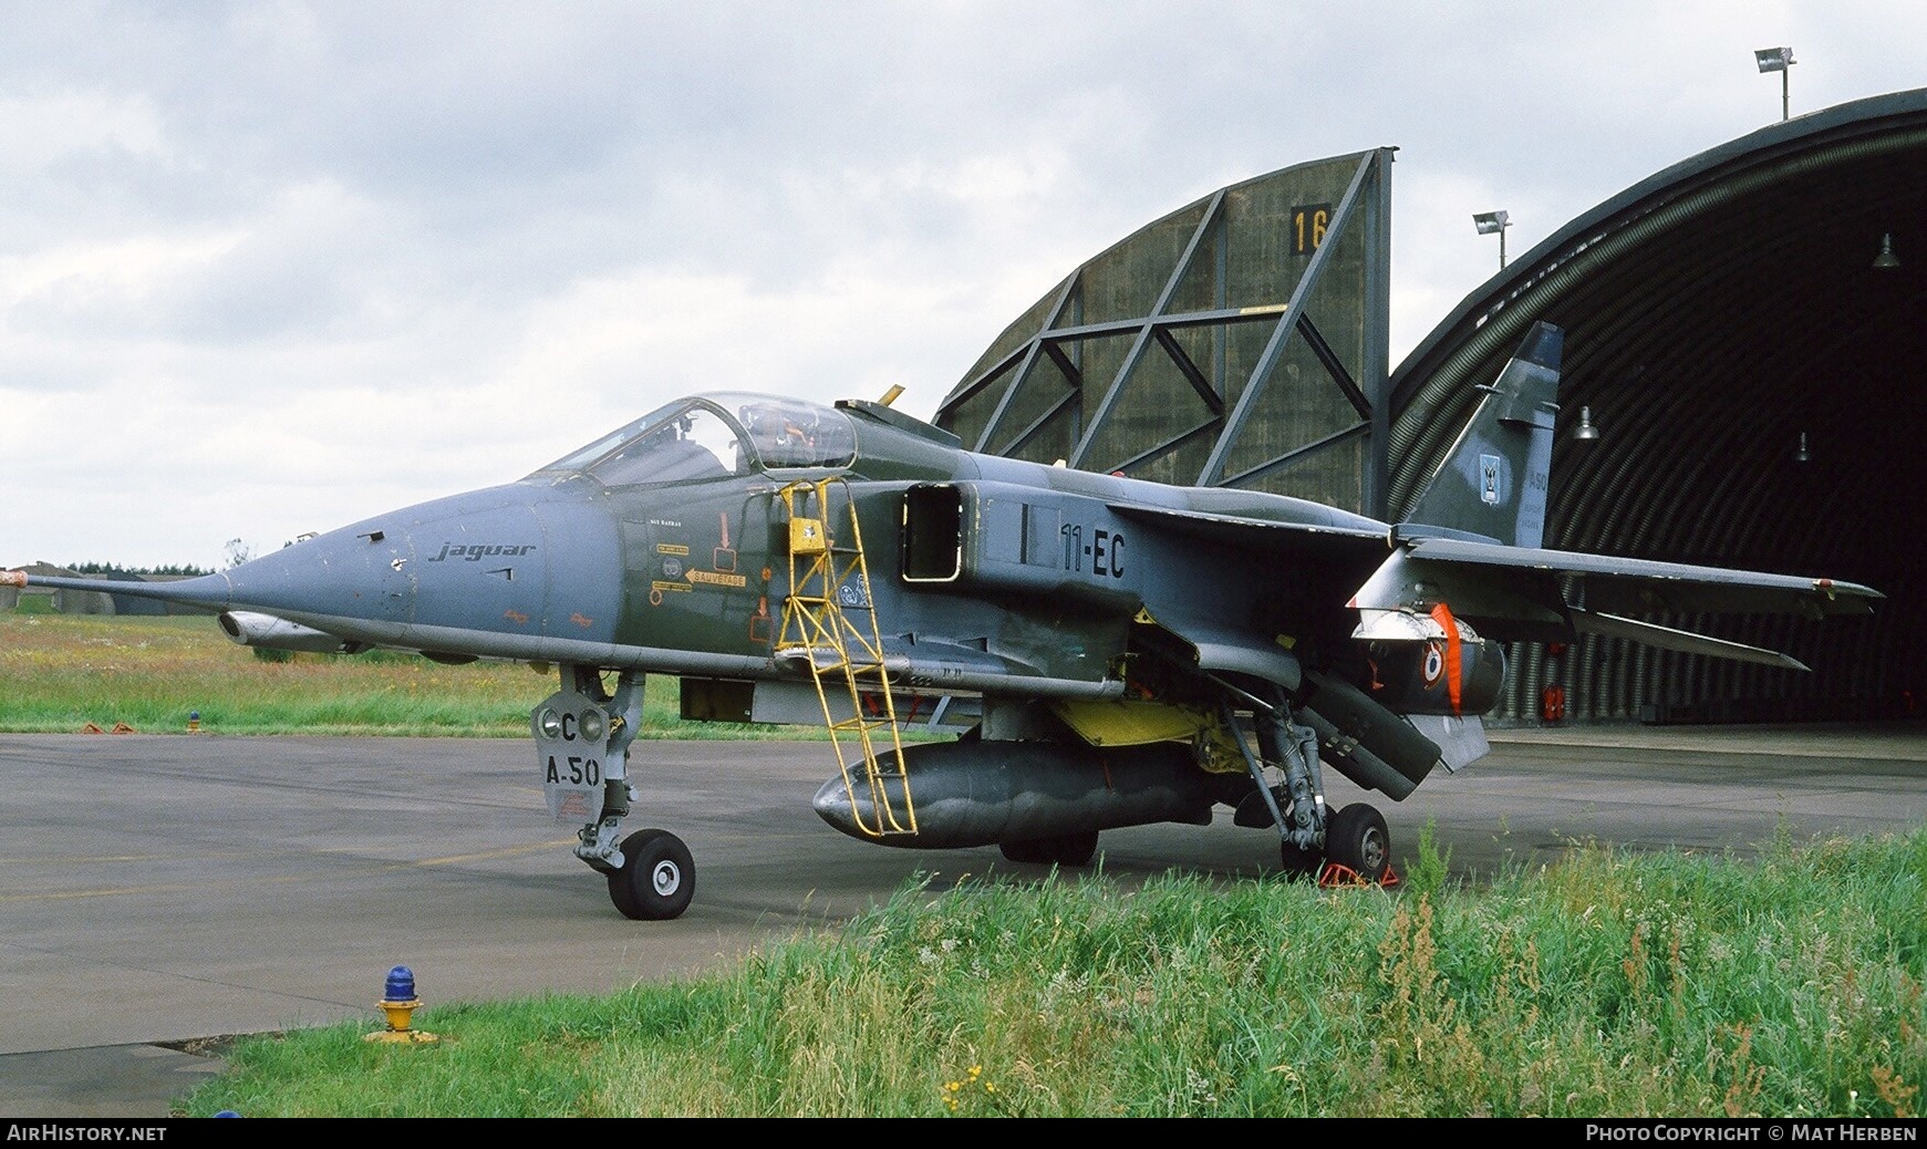
MULTIPOLYGON (((1079 262, 1397 147, 1393 364, 1927 4, 0 0, 0 563, 225 565, 734 387, 935 413, 1079 262)), ((1923 253, 1927 254, 1927 253, 1923 253)))

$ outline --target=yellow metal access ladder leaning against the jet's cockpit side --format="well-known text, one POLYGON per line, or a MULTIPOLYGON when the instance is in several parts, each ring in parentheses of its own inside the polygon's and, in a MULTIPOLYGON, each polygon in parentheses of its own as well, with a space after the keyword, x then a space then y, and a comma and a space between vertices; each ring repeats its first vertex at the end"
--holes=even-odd
POLYGON ((777 495, 790 522, 790 596, 782 601, 777 655, 800 652, 809 663, 817 702, 823 704, 823 725, 836 748, 836 765, 858 827, 879 839, 913 835, 917 810, 910 800, 896 698, 883 667, 883 632, 869 594, 863 528, 858 524, 850 484, 834 476, 798 480, 777 495), (832 530, 832 492, 840 495, 848 521, 848 546, 840 546, 832 530), (832 698, 848 702, 850 717, 838 717, 832 698), (884 729, 888 746, 879 756, 877 733, 884 729), (861 765, 850 762, 852 742, 861 765), (869 798, 871 819, 863 817, 858 804, 859 788, 869 798))

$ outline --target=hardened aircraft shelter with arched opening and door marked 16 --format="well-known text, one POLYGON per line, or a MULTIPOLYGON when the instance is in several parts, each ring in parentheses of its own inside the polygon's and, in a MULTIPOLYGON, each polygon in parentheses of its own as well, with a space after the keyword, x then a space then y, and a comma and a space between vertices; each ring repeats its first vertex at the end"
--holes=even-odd
POLYGON ((1675 619, 1811 673, 1603 636, 1517 644, 1491 717, 1915 713, 1927 91, 1773 123, 1628 187, 1513 258, 1395 370, 1391 154, 1285 168, 1148 224, 1014 322, 937 422, 981 451, 1399 519, 1474 387, 1547 320, 1567 337, 1545 546, 1827 574, 1888 600, 1827 627, 1675 619))

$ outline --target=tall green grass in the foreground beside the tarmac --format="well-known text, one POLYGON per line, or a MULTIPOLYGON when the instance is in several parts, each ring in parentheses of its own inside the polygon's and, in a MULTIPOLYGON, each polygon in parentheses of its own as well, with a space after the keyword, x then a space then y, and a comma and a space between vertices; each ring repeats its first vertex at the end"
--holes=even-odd
POLYGON ((1478 889, 906 887, 613 997, 260 1035, 245 1116, 1919 1116, 1927 833, 1478 889))

